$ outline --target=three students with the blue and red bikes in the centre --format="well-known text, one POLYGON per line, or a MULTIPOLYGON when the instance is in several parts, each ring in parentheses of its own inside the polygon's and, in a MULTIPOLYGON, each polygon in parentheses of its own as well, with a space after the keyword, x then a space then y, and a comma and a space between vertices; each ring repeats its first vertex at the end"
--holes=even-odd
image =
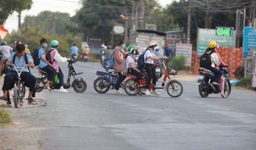
POLYGON ((121 46, 124 44, 124 41, 120 41, 116 44, 114 53, 114 67, 113 69, 118 72, 118 82, 115 86, 115 93, 116 94, 122 94, 120 90, 120 85, 126 78, 123 74, 121 74, 121 63, 123 61, 126 62, 127 71, 128 74, 133 74, 136 76, 136 79, 134 82, 138 82, 139 79, 142 77, 142 69, 146 71, 147 74, 147 81, 146 81, 146 96, 150 96, 151 94, 154 95, 160 95, 160 93, 157 92, 157 90, 152 90, 152 92, 149 92, 149 85, 152 82, 154 85, 156 85, 157 82, 157 76, 155 74, 155 68, 154 68, 154 60, 161 60, 163 58, 167 59, 168 57, 160 57, 156 56, 154 52, 157 50, 157 42, 155 40, 152 40, 149 42, 149 47, 144 51, 144 60, 146 65, 143 68, 138 68, 136 64, 135 56, 137 55, 135 46, 128 46, 127 52, 124 50, 121 50, 121 46))

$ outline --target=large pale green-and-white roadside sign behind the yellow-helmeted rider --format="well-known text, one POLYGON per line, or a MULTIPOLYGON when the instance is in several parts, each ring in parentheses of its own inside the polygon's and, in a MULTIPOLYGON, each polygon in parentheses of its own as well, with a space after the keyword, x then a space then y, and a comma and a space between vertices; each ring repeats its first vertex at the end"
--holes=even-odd
POLYGON ((221 47, 232 48, 235 46, 235 34, 233 34, 233 36, 217 36, 216 29, 198 29, 197 34, 196 52, 199 55, 205 53, 210 41, 216 41, 216 43, 221 47))

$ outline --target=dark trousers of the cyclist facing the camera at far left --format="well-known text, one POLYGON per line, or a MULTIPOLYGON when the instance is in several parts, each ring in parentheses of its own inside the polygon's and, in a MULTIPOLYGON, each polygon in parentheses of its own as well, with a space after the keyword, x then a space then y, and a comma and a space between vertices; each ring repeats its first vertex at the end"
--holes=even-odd
MULTIPOLYGON (((10 71, 8 74, 4 76, 4 85, 2 90, 11 90, 14 88, 14 83, 17 81, 17 72, 10 71)), ((29 72, 22 72, 21 79, 25 82, 25 86, 29 88, 29 92, 33 92, 32 96, 35 97, 35 84, 36 84, 36 77, 30 74, 29 72)))

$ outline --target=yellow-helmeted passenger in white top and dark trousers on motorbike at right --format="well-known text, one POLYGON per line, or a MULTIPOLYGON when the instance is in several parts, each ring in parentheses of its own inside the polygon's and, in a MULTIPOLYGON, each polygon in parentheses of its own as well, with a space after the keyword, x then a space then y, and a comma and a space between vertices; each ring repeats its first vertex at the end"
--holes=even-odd
POLYGON ((216 49, 217 43, 214 41, 211 41, 209 43, 208 48, 206 49, 205 53, 210 54, 210 60, 212 62, 210 66, 210 71, 213 71, 214 74, 216 74, 216 78, 213 80, 213 85, 218 85, 219 79, 221 79, 222 72, 216 68, 216 66, 220 65, 220 61, 218 59, 218 55, 216 54, 215 49, 216 49), (213 52, 212 52, 213 51, 213 52))

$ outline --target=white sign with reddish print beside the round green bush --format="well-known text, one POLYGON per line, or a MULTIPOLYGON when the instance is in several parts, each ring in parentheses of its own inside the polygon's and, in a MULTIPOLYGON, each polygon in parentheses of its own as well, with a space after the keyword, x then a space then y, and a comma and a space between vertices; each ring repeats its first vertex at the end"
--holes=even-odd
POLYGON ((185 66, 191 66, 192 60, 192 44, 188 43, 177 43, 176 44, 176 56, 185 56, 186 63, 185 66))

